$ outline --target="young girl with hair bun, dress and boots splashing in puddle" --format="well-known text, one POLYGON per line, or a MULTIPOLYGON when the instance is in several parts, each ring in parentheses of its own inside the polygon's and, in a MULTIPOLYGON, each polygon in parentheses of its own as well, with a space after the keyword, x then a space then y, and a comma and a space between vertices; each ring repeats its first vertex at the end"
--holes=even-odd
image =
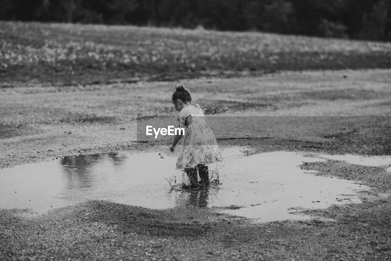
MULTIPOLYGON (((204 117, 204 111, 198 104, 191 105, 192 98, 185 86, 178 84, 172 94, 171 102, 179 111, 178 126, 187 128, 182 151, 176 162, 176 169, 185 169, 190 179, 190 185, 183 184, 183 188, 199 189, 200 184, 209 184, 209 172, 206 164, 220 161, 221 154, 215 135, 204 117), (201 181, 198 183, 197 169, 201 181)), ((175 135, 170 151, 173 152, 176 143, 182 138, 182 134, 175 135)))

